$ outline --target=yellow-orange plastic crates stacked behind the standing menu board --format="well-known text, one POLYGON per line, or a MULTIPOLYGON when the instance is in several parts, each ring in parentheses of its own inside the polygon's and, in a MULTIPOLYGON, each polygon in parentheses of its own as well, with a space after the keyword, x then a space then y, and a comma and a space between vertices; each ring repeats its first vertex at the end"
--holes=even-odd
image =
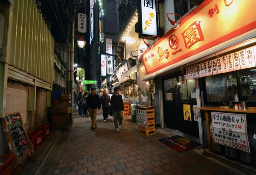
POLYGON ((149 136, 156 134, 156 126, 155 126, 155 117, 154 117, 154 109, 146 109, 147 119, 148 119, 148 128, 144 128, 139 126, 140 134, 149 136))

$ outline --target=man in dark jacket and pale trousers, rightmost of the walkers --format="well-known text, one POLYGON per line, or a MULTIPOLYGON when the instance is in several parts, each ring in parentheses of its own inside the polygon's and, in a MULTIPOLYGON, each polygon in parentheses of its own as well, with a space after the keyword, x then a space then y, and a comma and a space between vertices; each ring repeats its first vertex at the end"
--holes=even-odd
POLYGON ((114 95, 111 96, 111 107, 113 110, 116 131, 119 131, 123 119, 122 111, 125 109, 122 95, 119 95, 119 87, 114 88, 114 95))

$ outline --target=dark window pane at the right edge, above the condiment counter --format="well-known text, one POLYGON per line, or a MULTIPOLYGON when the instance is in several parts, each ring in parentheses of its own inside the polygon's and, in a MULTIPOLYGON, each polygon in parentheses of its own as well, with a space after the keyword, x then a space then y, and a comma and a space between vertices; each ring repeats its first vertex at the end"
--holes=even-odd
POLYGON ((239 71, 241 101, 256 102, 256 69, 239 71))

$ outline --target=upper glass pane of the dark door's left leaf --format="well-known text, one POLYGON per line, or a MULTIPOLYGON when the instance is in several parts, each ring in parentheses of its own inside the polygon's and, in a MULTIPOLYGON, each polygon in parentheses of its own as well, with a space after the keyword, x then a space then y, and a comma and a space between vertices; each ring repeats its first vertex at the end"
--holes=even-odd
POLYGON ((178 101, 178 88, 177 88, 177 78, 171 78, 164 80, 164 91, 166 101, 178 101))

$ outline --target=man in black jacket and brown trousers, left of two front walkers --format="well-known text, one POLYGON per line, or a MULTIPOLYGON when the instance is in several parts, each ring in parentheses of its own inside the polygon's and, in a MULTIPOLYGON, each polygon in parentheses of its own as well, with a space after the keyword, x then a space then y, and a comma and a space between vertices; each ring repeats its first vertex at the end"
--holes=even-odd
POLYGON ((91 94, 87 97, 87 107, 90 114, 90 118, 92 119, 91 129, 95 129, 96 118, 97 118, 97 109, 101 108, 101 102, 99 95, 96 94, 96 89, 91 88, 91 94))

